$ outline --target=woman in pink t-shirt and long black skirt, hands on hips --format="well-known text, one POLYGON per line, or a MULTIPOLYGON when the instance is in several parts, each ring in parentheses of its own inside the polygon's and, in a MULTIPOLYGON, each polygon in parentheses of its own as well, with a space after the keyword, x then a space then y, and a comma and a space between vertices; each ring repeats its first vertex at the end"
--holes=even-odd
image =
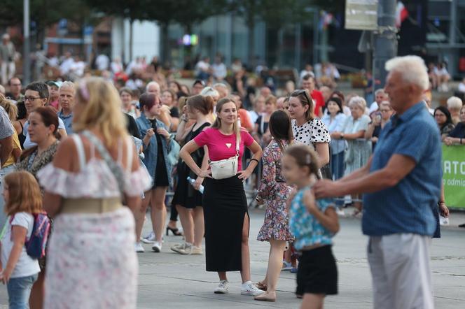
POLYGON ((204 177, 202 206, 205 221, 205 257, 207 271, 216 271, 220 283, 214 292, 228 293, 227 271, 240 271, 241 294, 263 293, 250 280, 249 213, 242 182, 249 178, 261 159, 262 150, 247 131, 237 125, 237 107, 230 98, 216 104, 216 120, 211 128, 202 131, 187 143, 179 156, 199 177, 204 177), (238 173, 231 178, 215 180, 211 171, 202 170, 190 156, 200 147, 211 161, 229 159, 236 155, 236 136, 239 135, 240 150, 238 173), (249 166, 242 170, 242 155, 247 147, 254 153, 249 166))

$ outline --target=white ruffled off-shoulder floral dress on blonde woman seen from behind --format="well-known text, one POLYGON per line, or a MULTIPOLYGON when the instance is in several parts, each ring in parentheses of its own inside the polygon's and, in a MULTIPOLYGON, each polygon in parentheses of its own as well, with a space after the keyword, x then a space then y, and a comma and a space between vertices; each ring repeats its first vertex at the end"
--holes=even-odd
MULTIPOLYGON (((62 199, 118 198, 118 182, 106 162, 94 157, 93 148, 87 161, 80 137, 74 134, 71 138, 81 171, 71 173, 50 163, 38 173, 41 186, 62 199)), ((125 144, 130 153, 132 141, 128 138, 125 144)), ((151 178, 144 168, 125 170, 127 196, 140 196, 150 187, 151 178)), ((127 207, 108 213, 57 215, 47 252, 44 308, 136 308, 134 231, 134 216, 127 207)))

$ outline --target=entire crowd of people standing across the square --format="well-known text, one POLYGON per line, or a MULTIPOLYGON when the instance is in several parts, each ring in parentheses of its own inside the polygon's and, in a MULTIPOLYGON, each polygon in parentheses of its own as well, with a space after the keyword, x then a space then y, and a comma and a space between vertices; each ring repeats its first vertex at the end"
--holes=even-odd
POLYGON ((387 62, 386 85, 369 106, 322 85, 310 67, 300 89, 283 96, 267 85, 244 88, 243 78, 228 83, 219 63, 197 69, 192 85, 160 73, 129 85, 118 76, 24 89, 19 78, 8 81, 0 280, 10 307, 135 308, 137 252, 143 243, 166 251, 171 231, 184 241, 169 250, 204 254, 206 270, 218 273, 216 294, 228 293, 228 271, 240 271, 241 294, 276 301, 279 273, 298 256, 296 295, 303 308, 321 308, 338 293, 331 238, 353 204, 370 236, 375 308, 433 308, 428 238, 448 216, 440 143, 464 145, 465 107, 452 97, 429 110, 423 60, 387 62), (244 187, 265 205, 258 240, 270 243, 270 256, 257 283, 244 187), (46 256, 32 259, 25 240, 43 210, 53 230, 46 256), (151 232, 142 236, 147 211, 151 232))

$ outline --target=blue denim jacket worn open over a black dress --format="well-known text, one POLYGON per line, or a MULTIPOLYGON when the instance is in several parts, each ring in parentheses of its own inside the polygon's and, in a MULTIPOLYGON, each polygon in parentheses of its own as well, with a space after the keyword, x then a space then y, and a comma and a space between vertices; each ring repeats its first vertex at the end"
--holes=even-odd
MULTIPOLYGON (((144 114, 141 115, 141 117, 137 118, 136 120, 137 127, 139 128, 139 131, 141 133, 141 136, 144 137, 146 135, 146 132, 148 129, 151 129, 152 127, 152 122, 148 120, 144 114)), ((168 131, 168 128, 161 122, 160 120, 157 120, 157 127, 158 128, 163 128, 168 131)), ((169 164, 169 161, 167 159, 168 157, 168 152, 171 149, 171 143, 172 140, 167 143, 166 138, 162 138, 162 146, 163 146, 163 156, 165 157, 165 164, 166 164, 166 170, 168 173, 168 180, 169 180, 169 185, 172 185, 172 177, 171 177, 171 172, 172 172, 172 166, 169 164)), ((150 139, 150 143, 148 146, 144 144, 144 164, 146 165, 148 173, 151 175, 153 178, 153 185, 156 184, 157 179, 155 175, 155 169, 157 168, 157 155, 158 155, 158 143, 157 143, 157 137, 153 135, 150 139)))

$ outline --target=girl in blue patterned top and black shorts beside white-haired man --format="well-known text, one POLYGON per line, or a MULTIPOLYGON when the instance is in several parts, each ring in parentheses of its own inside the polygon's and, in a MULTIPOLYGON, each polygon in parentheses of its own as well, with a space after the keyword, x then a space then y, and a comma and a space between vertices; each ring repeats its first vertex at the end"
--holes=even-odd
POLYGON ((296 237, 294 246, 302 253, 296 290, 303 296, 302 308, 323 308, 326 295, 338 294, 338 268, 331 250, 331 238, 339 231, 338 215, 331 201, 314 199, 318 167, 316 152, 306 145, 290 146, 282 159, 286 182, 298 188, 289 227, 296 237))

